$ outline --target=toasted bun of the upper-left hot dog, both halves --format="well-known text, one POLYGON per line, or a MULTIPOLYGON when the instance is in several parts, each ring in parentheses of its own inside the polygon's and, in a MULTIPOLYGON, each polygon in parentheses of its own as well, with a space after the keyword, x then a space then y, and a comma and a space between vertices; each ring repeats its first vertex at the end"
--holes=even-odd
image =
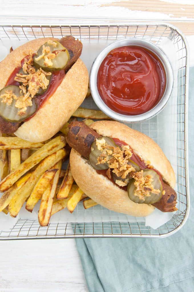
MULTIPOLYGON (((7 79, 21 60, 41 45, 55 38, 35 39, 13 50, 1 63, 0 89, 6 85, 7 79), (6 68, 6 70, 5 70, 6 68)), ((41 142, 51 138, 68 121, 73 112, 83 102, 88 89, 88 71, 81 59, 69 69, 55 93, 28 121, 24 122, 15 135, 30 142, 41 142)))

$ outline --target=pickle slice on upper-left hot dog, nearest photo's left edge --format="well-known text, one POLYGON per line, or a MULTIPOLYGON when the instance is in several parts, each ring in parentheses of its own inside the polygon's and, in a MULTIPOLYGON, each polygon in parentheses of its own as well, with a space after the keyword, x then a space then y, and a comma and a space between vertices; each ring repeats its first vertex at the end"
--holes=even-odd
MULTIPOLYGON (((17 97, 19 97, 20 94, 20 88, 15 85, 9 85, 1 89, 0 96, 6 91, 12 91, 17 97)), ((0 98, 0 115, 2 118, 4 118, 7 121, 10 122, 21 122, 28 117, 32 116, 34 112, 37 110, 37 104, 35 98, 32 98, 32 106, 28 106, 27 110, 24 115, 20 116, 18 115, 19 109, 15 107, 15 100, 13 99, 11 105, 7 105, 5 102, 2 102, 2 99, 0 98)))

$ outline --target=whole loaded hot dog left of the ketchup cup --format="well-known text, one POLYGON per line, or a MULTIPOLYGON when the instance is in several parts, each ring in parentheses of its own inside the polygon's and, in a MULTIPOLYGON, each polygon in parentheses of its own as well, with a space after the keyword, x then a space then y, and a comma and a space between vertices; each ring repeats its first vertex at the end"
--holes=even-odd
POLYGON ((40 38, 1 61, 0 131, 39 142, 51 138, 84 100, 88 72, 73 36, 40 38))

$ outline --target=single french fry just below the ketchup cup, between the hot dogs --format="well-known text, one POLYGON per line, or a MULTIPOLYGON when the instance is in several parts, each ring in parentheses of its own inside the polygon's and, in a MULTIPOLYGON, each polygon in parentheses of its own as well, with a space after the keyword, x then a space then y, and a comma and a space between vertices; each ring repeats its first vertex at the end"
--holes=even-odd
POLYGON ((111 118, 104 114, 101 110, 86 109, 78 107, 78 109, 72 114, 73 117, 98 119, 98 120, 110 120, 111 118))

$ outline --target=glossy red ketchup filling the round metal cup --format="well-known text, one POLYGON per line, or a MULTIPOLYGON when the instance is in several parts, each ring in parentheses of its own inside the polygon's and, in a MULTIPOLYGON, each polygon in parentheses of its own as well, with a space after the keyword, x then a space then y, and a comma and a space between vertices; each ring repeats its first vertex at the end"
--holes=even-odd
POLYGON ((98 92, 105 104, 119 114, 149 111, 159 102, 165 85, 161 61, 153 52, 139 46, 113 49, 98 69, 98 92))

